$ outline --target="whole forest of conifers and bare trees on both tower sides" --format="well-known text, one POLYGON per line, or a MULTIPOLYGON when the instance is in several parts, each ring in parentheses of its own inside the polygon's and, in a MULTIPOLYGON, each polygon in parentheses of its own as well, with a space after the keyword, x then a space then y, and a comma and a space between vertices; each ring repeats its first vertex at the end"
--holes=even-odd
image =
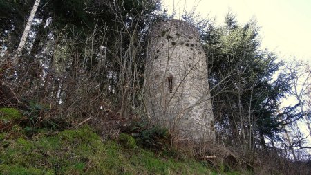
MULTIPOLYGON (((0 106, 21 109, 30 135, 88 122, 112 138, 125 122, 149 120, 149 29, 176 18, 161 1, 1 0, 0 9, 0 106)), ((191 10, 178 18, 200 32, 218 145, 310 162, 310 62, 263 49, 260 24, 240 24, 232 11, 221 25, 191 10), (296 104, 283 105, 289 97, 296 104)))

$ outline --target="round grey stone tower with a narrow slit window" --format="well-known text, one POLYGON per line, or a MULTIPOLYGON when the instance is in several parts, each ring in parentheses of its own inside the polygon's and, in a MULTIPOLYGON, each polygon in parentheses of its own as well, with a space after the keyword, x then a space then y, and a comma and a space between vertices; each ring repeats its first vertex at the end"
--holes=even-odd
POLYGON ((151 29, 146 62, 146 102, 152 120, 180 140, 214 140, 205 53, 198 30, 185 21, 151 29))

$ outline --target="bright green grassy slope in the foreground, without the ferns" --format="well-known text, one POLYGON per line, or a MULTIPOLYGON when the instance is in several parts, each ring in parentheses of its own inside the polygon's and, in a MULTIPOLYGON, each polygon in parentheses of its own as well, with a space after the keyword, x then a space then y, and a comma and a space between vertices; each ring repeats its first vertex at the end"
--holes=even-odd
MULTIPOLYGON (((17 134, 18 135, 18 134, 17 134)), ((28 140, 0 134, 0 174, 215 174, 195 160, 174 160, 116 142, 102 142, 87 126, 41 132, 28 140)))

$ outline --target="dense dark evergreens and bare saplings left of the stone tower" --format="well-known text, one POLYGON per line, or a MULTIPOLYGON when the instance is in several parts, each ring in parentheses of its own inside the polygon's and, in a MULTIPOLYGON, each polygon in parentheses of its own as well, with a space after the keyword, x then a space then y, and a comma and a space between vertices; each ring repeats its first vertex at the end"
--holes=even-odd
MULTIPOLYGON (((102 102, 95 100, 97 104, 94 104, 89 98, 82 100, 88 93, 92 93, 93 98, 104 99, 99 96, 105 95, 108 98, 106 101, 113 99, 113 107, 125 108, 124 116, 132 112, 129 109, 141 106, 142 98, 139 99, 136 90, 141 89, 144 81, 148 30, 153 21, 163 17, 156 12, 160 3, 41 0, 19 65, 12 65, 11 57, 15 55, 34 2, 0 1, 0 52, 5 53, 0 61, 8 61, 8 64, 0 65, 0 78, 7 80, 6 84, 14 84, 16 89, 12 88, 13 91, 20 95, 17 98, 27 94, 28 99, 51 104, 59 112, 52 117, 66 121, 66 117, 72 117, 74 113, 73 110, 66 110, 69 107, 77 109, 77 116, 85 116, 82 113, 97 115, 94 109, 99 111, 102 102), (6 71, 3 70, 10 70, 10 75, 4 75, 6 71), (115 77, 111 78, 111 73, 115 77), (119 77, 124 77, 124 80, 117 82, 119 77), (92 88, 87 87, 88 84, 92 88), (123 86, 130 88, 124 90, 123 86), (119 104, 122 101, 119 93, 128 95, 124 99, 129 102, 119 104), (86 100, 94 107, 84 104, 86 100)), ((10 100, 3 101, 6 103, 1 105, 9 106, 10 100)), ((37 122, 39 118, 46 119, 41 116, 46 113, 45 109, 25 111, 25 116, 30 120, 27 130, 33 129, 34 124, 50 125, 46 127, 52 128, 59 125, 53 120, 50 123, 42 123, 46 120, 37 122), (37 115, 37 112, 40 114, 37 115)))

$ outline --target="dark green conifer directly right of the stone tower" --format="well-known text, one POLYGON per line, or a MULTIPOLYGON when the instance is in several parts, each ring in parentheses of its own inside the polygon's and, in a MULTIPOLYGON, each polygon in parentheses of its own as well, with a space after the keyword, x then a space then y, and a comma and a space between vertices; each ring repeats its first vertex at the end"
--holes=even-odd
POLYGON ((261 50, 256 22, 241 26, 229 13, 223 27, 213 24, 202 35, 209 85, 220 139, 245 149, 265 147, 264 136, 280 131, 279 104, 290 90, 289 75, 267 50, 261 50), (279 76, 275 76, 277 75, 279 76))

